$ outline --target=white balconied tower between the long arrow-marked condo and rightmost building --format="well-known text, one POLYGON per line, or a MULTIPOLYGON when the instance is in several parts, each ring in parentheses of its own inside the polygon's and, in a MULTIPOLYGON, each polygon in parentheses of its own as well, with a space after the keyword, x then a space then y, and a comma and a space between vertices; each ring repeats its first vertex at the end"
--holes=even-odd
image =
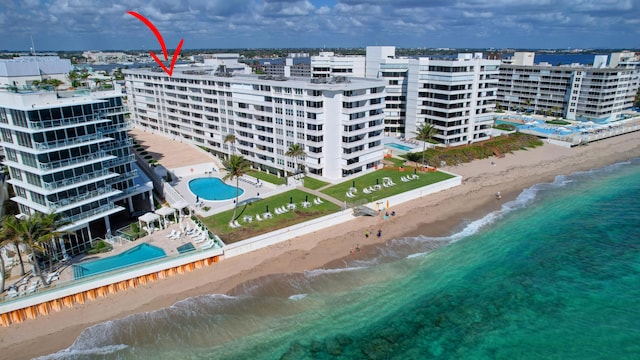
POLYGON ((405 133, 411 137, 421 124, 431 124, 433 140, 464 145, 491 135, 500 61, 482 54, 456 59, 408 60, 405 133))

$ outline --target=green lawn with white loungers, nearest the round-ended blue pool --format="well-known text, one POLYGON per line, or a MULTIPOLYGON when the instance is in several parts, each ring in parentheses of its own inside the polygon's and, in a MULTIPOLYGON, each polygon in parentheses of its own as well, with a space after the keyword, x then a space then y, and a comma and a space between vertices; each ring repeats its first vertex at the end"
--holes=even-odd
MULTIPOLYGON (((266 181, 266 180, 265 180, 266 181)), ((236 217, 238 222, 242 225, 240 228, 232 228, 229 226, 229 221, 233 216, 233 210, 228 210, 219 214, 214 214, 206 218, 202 218, 202 222, 215 234, 218 234, 223 242, 230 244, 236 241, 248 239, 253 236, 268 233, 277 229, 281 229, 287 226, 298 224, 304 221, 308 221, 314 218, 325 216, 340 210, 340 207, 324 200, 320 205, 313 203, 315 195, 309 194, 301 190, 291 190, 286 193, 274 195, 272 197, 258 200, 246 206, 238 206, 236 217), (300 204, 308 198, 311 206, 303 208, 300 204), (283 205, 289 204, 290 200, 296 204, 297 208, 293 211, 289 211, 285 214, 276 214, 275 209, 283 205), (269 207, 269 212, 273 214, 273 218, 257 221, 255 215, 258 214, 262 217, 269 207), (252 216, 254 220, 250 223, 246 223, 243 220, 243 216, 252 216)))

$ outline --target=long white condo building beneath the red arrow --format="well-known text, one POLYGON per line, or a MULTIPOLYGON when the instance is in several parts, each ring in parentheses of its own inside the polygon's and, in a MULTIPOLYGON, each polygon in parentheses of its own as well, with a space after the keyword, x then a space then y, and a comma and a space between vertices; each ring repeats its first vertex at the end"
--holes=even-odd
POLYGON ((271 173, 296 172, 285 153, 306 152, 307 173, 328 181, 373 169, 383 158, 384 82, 332 77, 220 76, 176 67, 173 76, 125 70, 135 126, 188 140, 226 157, 234 151, 271 173), (227 135, 235 143, 224 143, 227 135))

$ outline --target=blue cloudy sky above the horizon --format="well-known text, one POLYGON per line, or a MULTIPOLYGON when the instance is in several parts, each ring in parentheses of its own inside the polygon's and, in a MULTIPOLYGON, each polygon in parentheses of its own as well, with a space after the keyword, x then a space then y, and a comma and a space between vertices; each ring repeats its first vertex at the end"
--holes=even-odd
POLYGON ((0 50, 640 48, 640 0, 2 0, 0 50))

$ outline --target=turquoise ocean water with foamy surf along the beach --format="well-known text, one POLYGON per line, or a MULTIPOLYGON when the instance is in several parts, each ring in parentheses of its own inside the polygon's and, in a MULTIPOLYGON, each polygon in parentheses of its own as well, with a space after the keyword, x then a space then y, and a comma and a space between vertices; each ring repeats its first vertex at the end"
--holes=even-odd
POLYGON ((43 359, 631 359, 640 159, 558 176, 452 235, 86 329, 43 359))

